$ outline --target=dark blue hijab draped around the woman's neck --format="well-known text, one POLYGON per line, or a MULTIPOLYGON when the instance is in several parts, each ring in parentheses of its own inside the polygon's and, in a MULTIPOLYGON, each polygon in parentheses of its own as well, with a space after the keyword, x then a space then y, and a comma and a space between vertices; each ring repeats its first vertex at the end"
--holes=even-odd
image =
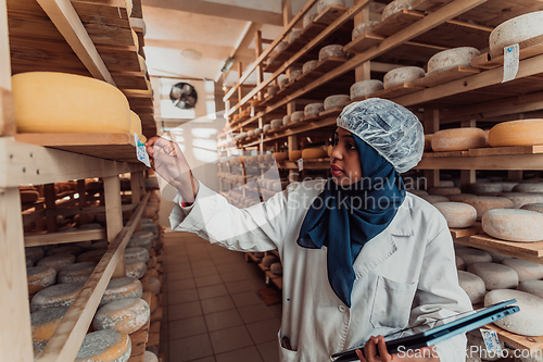
POLYGON ((351 308, 353 263, 366 242, 389 226, 405 199, 405 185, 394 166, 353 134, 363 178, 348 187, 331 178, 305 214, 298 245, 328 247, 328 282, 351 308))

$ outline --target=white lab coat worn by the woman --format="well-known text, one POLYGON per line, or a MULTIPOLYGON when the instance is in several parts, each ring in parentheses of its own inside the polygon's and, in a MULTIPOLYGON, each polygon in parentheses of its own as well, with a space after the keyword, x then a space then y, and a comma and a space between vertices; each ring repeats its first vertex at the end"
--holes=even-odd
MULTIPOLYGON (((444 217, 407 194, 390 225, 368 241, 354 262, 356 279, 349 309, 328 283, 327 248, 296 244, 304 216, 325 180, 291 184, 266 202, 238 209, 200 184, 194 204, 176 205, 172 229, 198 234, 238 251, 278 249, 283 267, 281 362, 325 362, 370 336, 388 335, 471 310, 458 286, 453 241, 444 217)), ((438 346, 441 362, 465 361, 466 338, 438 346)))

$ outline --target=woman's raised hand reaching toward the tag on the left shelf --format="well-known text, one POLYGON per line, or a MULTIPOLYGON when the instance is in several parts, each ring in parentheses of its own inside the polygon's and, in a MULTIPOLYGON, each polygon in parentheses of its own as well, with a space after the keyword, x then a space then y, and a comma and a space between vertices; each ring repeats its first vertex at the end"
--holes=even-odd
POLYGON ((146 142, 151 167, 174 186, 187 202, 193 202, 199 184, 192 176, 189 163, 179 146, 163 137, 154 136, 146 142))

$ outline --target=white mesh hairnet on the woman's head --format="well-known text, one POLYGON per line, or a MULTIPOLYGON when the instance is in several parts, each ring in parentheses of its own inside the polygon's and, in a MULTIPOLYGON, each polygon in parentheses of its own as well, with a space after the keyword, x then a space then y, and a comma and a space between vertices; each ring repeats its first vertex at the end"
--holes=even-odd
POLYGON ((338 127, 358 136, 399 173, 415 167, 425 148, 420 121, 407 109, 386 99, 370 98, 343 109, 338 127))

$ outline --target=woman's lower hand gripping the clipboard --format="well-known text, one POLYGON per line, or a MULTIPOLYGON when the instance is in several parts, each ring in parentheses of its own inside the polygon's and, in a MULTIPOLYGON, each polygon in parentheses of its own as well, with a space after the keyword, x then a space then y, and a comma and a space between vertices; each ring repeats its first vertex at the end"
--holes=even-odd
POLYGON ((390 354, 382 336, 371 337, 364 346, 364 353, 359 349, 356 355, 362 362, 439 362, 434 347, 425 347, 417 350, 406 350, 390 354), (379 351, 379 353, 378 353, 379 351), (366 358, 364 357, 366 355, 366 358))

